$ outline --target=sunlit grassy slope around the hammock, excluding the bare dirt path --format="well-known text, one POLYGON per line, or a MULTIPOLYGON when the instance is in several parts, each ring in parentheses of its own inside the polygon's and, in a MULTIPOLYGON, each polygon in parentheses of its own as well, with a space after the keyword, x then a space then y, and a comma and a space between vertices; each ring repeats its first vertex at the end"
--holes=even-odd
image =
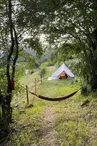
MULTIPOLYGON (((48 68, 48 71, 53 71, 48 68)), ((47 72, 46 76, 50 73, 47 72)), ((33 83, 38 72, 26 76, 22 79, 23 84, 28 84, 29 89, 34 91, 33 83)), ((37 93, 49 96, 59 97, 72 93, 79 88, 78 83, 72 81, 47 81, 43 84, 37 84, 37 93)), ((13 110, 14 128, 10 136, 8 146, 44 146, 42 138, 42 113, 47 107, 53 108, 55 112, 55 129, 60 146, 97 146, 97 102, 95 95, 88 97, 80 95, 78 92, 72 98, 61 102, 49 102, 38 99, 29 94, 30 103, 34 104, 31 108, 25 108, 26 96, 21 95, 16 101, 20 104, 13 110), (88 105, 81 106, 86 100, 90 99, 88 105)))

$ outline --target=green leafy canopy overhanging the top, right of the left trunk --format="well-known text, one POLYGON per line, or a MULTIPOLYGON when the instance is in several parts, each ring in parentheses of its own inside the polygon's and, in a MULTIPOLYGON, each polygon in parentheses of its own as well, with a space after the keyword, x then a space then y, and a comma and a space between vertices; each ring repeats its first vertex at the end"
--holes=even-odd
MULTIPOLYGON (((84 79, 89 79, 88 76, 92 72, 91 79, 87 83, 93 87, 96 86, 95 79, 97 75, 94 64, 97 59, 95 57, 96 55, 94 55, 96 54, 94 49, 97 44, 97 39, 94 30, 96 30, 97 13, 92 6, 94 5, 93 1, 78 2, 74 0, 72 2, 71 0, 66 0, 63 2, 61 0, 50 0, 46 2, 45 0, 38 0, 36 2, 19 0, 16 2, 16 5, 18 3, 19 9, 16 8, 14 11, 13 15, 15 20, 13 21, 17 25, 18 34, 26 31, 31 36, 31 38, 25 39, 28 46, 35 49, 41 55, 43 52, 39 36, 41 33, 46 34, 46 37, 53 40, 55 46, 60 46, 58 52, 53 55, 54 59, 52 62, 55 63, 57 60, 66 61, 70 58, 80 57, 81 62, 84 61, 86 64, 80 66, 82 68, 79 71, 80 74, 84 79), (92 56, 89 55, 90 52, 92 52, 92 56), (83 60, 79 56, 80 53, 86 54, 87 57, 85 56, 83 60), (89 61, 89 58, 92 58, 91 61, 89 61), (89 66, 87 73, 86 66, 89 66), (95 70, 94 73, 93 70, 95 70)), ((5 6, 6 1, 2 2, 2 4, 5 6)), ((2 12, 5 12, 4 7, 1 9, 3 9, 2 12)), ((14 10, 14 7, 12 9, 14 10)), ((4 16, 7 17, 7 15, 4 16)), ((6 25, 1 25, 4 27, 2 34, 6 35, 7 21, 3 22, 3 24, 6 25)), ((3 38, 7 37, 4 36, 3 38)))

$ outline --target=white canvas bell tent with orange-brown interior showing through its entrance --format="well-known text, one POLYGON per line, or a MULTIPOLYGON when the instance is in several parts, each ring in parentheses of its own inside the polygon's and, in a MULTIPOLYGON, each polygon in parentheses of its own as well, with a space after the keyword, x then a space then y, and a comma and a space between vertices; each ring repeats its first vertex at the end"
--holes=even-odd
POLYGON ((49 78, 49 80, 74 78, 74 74, 67 68, 65 64, 62 64, 49 78))

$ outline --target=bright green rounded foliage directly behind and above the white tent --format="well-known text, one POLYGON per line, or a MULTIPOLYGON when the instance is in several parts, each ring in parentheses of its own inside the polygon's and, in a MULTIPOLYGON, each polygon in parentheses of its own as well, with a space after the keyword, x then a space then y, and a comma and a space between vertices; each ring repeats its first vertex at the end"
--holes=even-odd
POLYGON ((69 62, 68 65, 74 65, 75 61, 78 60, 77 56, 81 53, 81 48, 79 43, 65 43, 52 54, 51 61, 53 63, 59 62, 61 65, 62 62, 69 62), (74 64, 73 64, 74 63, 74 64))

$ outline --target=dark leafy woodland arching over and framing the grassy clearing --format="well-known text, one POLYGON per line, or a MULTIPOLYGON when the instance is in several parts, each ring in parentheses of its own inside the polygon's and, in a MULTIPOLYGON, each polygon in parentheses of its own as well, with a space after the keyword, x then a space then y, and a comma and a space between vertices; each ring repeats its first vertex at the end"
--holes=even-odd
MULTIPOLYGON (((33 49, 38 59, 45 48, 54 50, 53 63, 78 59, 75 70, 83 88, 97 89, 96 0, 1 0, 0 34, 0 106, 7 132, 12 121, 12 82, 18 81, 26 68, 17 67, 19 59, 26 56, 23 45, 33 49), (46 46, 40 39, 42 34, 46 46)), ((32 62, 30 67, 37 65, 27 58, 32 62)))

